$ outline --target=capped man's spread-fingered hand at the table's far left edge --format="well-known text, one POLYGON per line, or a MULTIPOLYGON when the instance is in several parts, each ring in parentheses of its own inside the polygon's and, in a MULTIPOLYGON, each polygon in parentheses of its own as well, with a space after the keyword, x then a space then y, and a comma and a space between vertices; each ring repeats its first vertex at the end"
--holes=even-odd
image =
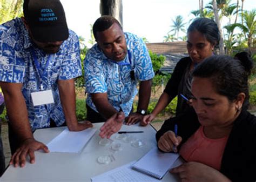
POLYGON ((35 163, 35 151, 40 149, 47 153, 50 152, 46 145, 36 141, 34 138, 25 139, 14 155, 11 156, 10 165, 14 164, 14 167, 18 165, 24 167, 27 155, 30 157, 30 163, 35 163))

